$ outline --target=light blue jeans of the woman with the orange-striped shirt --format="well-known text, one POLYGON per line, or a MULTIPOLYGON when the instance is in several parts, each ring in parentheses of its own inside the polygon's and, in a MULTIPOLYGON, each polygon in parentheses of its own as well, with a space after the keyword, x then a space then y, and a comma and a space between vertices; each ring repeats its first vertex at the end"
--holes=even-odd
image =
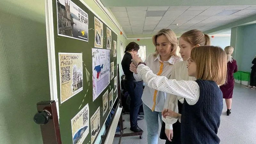
POLYGON ((145 115, 145 120, 147 123, 148 129, 148 144, 157 144, 158 143, 158 130, 159 130, 159 122, 158 117, 160 117, 160 122, 162 124, 162 112, 153 111, 148 108, 143 103, 143 110, 145 115))

